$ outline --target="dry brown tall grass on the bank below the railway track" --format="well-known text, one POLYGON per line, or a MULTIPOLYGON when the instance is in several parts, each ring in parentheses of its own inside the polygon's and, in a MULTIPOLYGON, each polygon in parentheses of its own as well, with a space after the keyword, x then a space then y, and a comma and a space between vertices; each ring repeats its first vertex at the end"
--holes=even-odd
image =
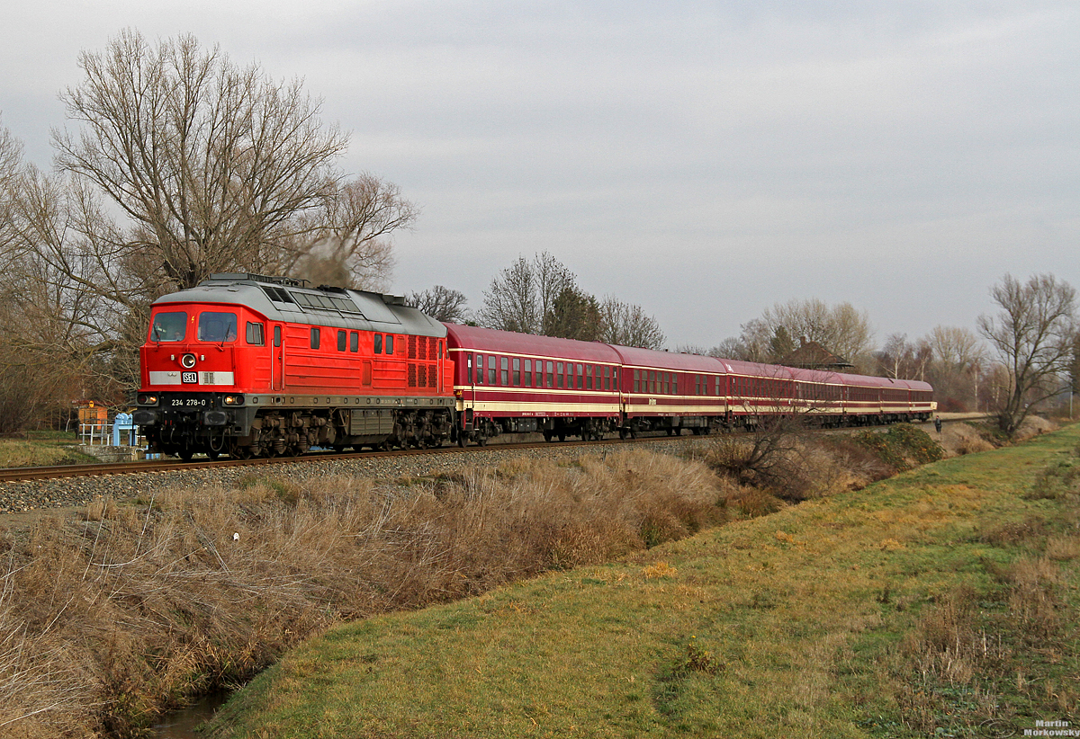
POLYGON ((0 734, 134 736, 336 620, 600 562, 755 507, 746 497, 700 463, 629 452, 98 501, 0 539, 0 734))

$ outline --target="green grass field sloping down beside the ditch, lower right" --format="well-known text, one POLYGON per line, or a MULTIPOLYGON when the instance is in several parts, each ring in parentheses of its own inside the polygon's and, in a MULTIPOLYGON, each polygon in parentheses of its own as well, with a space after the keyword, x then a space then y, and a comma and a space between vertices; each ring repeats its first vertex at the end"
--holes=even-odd
POLYGON ((1080 720, 1078 441, 1072 426, 334 628, 211 735, 982 737, 1080 720))

